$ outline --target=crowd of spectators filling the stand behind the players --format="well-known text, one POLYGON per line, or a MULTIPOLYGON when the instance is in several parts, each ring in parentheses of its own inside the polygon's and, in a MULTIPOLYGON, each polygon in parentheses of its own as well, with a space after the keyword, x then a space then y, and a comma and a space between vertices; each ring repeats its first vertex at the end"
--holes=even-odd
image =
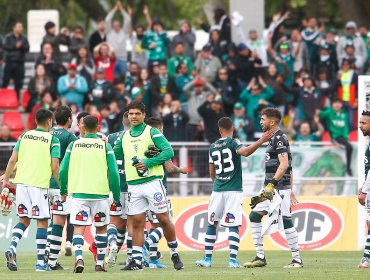
MULTIPOLYGON (((126 106, 136 100, 145 103, 148 116, 163 119, 170 141, 212 142, 219 137, 217 120, 223 116, 232 117, 237 137, 254 140, 262 132, 259 113, 273 106, 284 115, 293 139, 319 141, 328 131, 346 147, 350 162, 348 135, 357 126, 357 77, 370 74, 365 26, 349 21, 339 34, 310 17, 288 30, 285 13, 273 16, 265 35, 253 29, 245 34, 240 15, 229 18, 216 9, 214 25, 196 20, 209 33, 209 42, 197 53, 188 20, 180 21, 170 39, 147 7, 143 14, 146 24, 132 26, 132 9, 117 2, 105 19, 97 20, 90 37, 81 26, 71 34, 62 28, 56 35, 55 24, 47 22, 35 76, 28 84, 27 112, 68 104, 74 115, 98 114, 102 132, 112 133, 121 129, 126 106), (67 65, 60 45, 68 47, 67 65)), ((1 46, 6 52, 2 86, 13 80, 19 94, 29 51, 21 22, 1 46)), ((351 174, 350 165, 347 171, 351 174)))

